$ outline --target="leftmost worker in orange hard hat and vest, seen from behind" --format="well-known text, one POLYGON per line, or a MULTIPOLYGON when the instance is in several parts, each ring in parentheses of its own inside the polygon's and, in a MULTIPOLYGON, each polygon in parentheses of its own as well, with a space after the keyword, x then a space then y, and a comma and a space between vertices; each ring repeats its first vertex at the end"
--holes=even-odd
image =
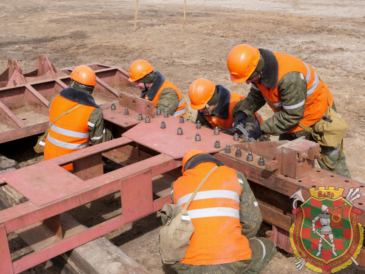
MULTIPOLYGON (((50 123, 78 104, 81 106, 51 126, 45 141, 45 160, 111 139, 110 130, 104 126, 103 112, 91 96, 96 85, 95 72, 87 65, 80 65, 71 72, 70 78, 71 87, 53 96, 48 104, 50 123)), ((73 170, 72 164, 62 167, 73 170)))

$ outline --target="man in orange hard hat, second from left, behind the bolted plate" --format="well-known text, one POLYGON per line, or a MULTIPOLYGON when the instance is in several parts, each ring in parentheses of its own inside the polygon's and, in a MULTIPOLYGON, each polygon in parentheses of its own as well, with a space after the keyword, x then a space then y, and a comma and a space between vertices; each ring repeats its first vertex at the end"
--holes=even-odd
POLYGON ((142 90, 141 98, 152 101, 155 108, 160 107, 162 112, 167 110, 174 117, 183 115, 185 120, 191 121, 184 96, 173 83, 153 69, 149 62, 136 60, 129 68, 128 80, 142 90))

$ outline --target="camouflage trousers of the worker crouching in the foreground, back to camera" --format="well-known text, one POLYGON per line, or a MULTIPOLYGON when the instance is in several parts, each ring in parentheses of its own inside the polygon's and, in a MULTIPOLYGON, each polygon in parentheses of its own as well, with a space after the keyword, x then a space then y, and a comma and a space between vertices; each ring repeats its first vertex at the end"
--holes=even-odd
POLYGON ((178 274, 260 273, 277 253, 276 247, 272 241, 261 237, 250 239, 249 244, 252 254, 248 260, 219 265, 187 265, 177 262, 170 267, 178 274))

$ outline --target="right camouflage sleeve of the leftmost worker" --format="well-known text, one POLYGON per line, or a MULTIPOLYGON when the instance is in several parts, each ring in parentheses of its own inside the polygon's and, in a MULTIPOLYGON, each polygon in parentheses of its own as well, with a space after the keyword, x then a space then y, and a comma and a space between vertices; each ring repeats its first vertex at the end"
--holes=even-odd
POLYGON ((90 132, 90 143, 92 145, 109 141, 112 137, 108 124, 104 125, 103 111, 95 109, 89 116, 88 128, 90 132))

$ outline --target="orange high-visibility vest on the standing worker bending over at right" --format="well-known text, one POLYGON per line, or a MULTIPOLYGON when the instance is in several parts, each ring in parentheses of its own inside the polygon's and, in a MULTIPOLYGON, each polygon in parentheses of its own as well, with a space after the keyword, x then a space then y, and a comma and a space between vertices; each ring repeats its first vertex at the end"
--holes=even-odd
MULTIPOLYGON (((303 119, 301 119, 300 123, 305 126, 314 125, 323 117, 323 114, 327 110, 328 103, 326 92, 328 95, 328 100, 332 106, 333 98, 331 92, 319 79, 318 75, 310 65, 294 56, 285 53, 273 52, 273 54, 275 55, 279 64, 278 83, 288 72, 300 72, 307 81, 307 98, 305 101, 300 102, 294 106, 284 106, 281 104, 280 94, 277 87, 278 83, 276 84, 276 87, 271 88, 270 90, 268 90, 262 84, 256 84, 257 87, 260 89, 264 99, 274 112, 283 108, 295 109, 296 107, 300 107, 305 104, 303 119)), ((252 87, 255 89, 254 85, 252 85, 252 87)), ((293 94, 293 96, 295 96, 295 94, 293 94)), ((297 132, 300 130, 303 130, 303 128, 301 128, 299 125, 295 125, 287 133, 297 132)))

